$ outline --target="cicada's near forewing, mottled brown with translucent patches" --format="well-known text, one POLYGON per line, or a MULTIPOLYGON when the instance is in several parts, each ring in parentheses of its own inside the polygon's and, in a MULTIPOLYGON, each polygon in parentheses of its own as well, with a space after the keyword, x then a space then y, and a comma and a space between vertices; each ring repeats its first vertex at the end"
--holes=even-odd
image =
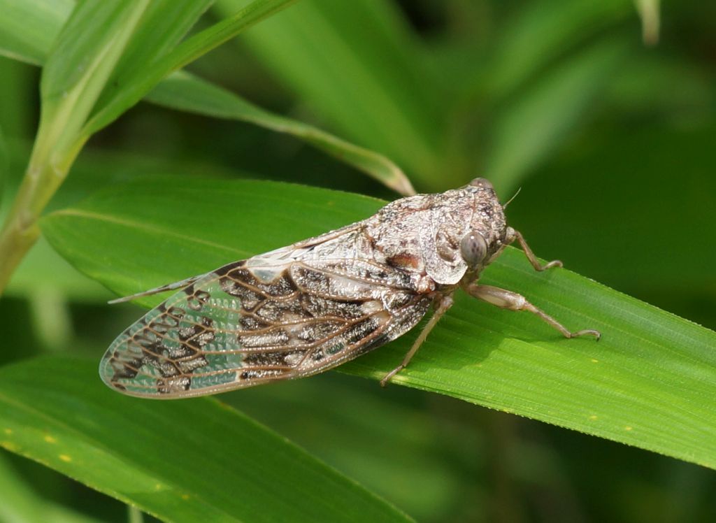
POLYGON ((430 304, 400 269, 277 252, 221 267, 147 312, 107 350, 102 379, 181 398, 300 378, 394 340, 430 304))

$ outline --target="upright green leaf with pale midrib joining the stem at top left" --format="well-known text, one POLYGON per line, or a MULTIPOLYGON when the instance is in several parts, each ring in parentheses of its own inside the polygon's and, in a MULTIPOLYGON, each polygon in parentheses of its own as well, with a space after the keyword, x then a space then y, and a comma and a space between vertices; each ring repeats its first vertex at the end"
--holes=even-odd
MULTIPOLYGON (((176 42, 208 1, 79 4, 43 69, 42 118, 35 155, 42 158, 52 148, 57 156, 54 162, 66 169, 90 135, 132 107, 163 77, 293 1, 256 0, 179 45, 176 42), (138 32, 137 27, 141 29, 138 32), (132 36, 136 39, 130 40, 132 36)), ((47 20, 57 24, 60 16, 54 12, 47 20)), ((37 17, 30 20, 38 26, 43 21, 37 17)), ((45 21, 45 25, 50 23, 45 21)), ((18 32, 17 27, 10 29, 14 31, 11 34, 18 32)), ((26 56, 41 61, 37 54, 26 56)))

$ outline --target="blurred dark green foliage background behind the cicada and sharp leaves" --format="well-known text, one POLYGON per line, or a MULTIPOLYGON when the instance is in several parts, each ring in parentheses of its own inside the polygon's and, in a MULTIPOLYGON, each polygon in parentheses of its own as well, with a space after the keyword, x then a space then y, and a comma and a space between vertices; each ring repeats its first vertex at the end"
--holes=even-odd
MULTIPOLYGON (((245 3, 220 1, 207 20, 245 3)), ((503 200, 521 187, 508 218, 539 256, 713 329, 716 4, 662 5, 657 44, 643 27, 621 0, 301 0, 190 70, 384 153, 418 191, 474 176, 503 200)), ((39 69, 0 58, 0 77, 1 213, 36 130, 39 69)), ((147 173, 397 197, 294 138, 140 104, 92 139, 50 209, 147 173)), ((111 297, 41 241, 0 301, 1 363, 99 360, 138 312, 111 297)), ((712 471, 417 390, 329 373, 221 399, 419 521, 716 514, 712 471)), ((126 519, 120 502, 6 451, 4 496, 41 499, 57 521, 126 519)))

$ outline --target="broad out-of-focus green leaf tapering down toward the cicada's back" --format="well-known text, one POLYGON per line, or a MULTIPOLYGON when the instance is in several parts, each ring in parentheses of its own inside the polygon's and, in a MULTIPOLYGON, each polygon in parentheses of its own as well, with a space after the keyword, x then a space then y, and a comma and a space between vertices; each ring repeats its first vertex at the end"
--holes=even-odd
MULTIPOLYGON (((219 0, 216 9, 244 4, 219 0)), ((441 91, 392 2, 303 1, 241 40, 342 135, 392 158, 425 186, 459 178, 443 159, 441 91)))

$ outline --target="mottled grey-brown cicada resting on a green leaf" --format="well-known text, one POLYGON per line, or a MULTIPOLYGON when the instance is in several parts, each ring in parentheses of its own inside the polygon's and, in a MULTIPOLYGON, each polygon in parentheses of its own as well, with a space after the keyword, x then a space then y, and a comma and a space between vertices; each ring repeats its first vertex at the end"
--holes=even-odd
POLYGON ((462 288, 571 332, 521 294, 480 284, 480 272, 523 236, 493 186, 388 203, 374 216, 212 272, 115 301, 175 290, 112 342, 102 380, 122 393, 186 398, 321 373, 395 340, 432 316, 382 385, 410 361, 462 288), (178 290, 177 290, 178 289, 178 290))

